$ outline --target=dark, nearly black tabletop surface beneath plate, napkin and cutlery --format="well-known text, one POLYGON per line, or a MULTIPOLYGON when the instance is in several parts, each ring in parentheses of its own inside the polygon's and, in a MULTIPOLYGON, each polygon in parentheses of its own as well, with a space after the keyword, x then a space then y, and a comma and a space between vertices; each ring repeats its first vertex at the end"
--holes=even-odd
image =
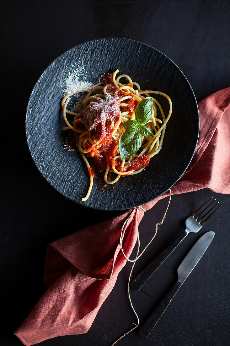
MULTIPOLYGON (((1 345, 21 345, 13 335, 45 292, 42 281, 47 244, 115 216, 90 210, 55 191, 41 176, 25 137, 26 106, 39 76, 60 54, 87 40, 124 37, 169 56, 188 78, 197 101, 230 86, 229 1, 1 1, 1 345), (71 217, 69 217, 71 216, 71 217), (75 221, 77 220, 77 222, 75 221)), ((131 292, 141 322, 176 281, 176 268, 195 240, 215 237, 149 338, 135 331, 117 345, 228 345, 229 196, 205 189, 172 197, 154 243, 134 275, 184 229, 199 204, 214 195, 222 207, 189 235, 141 292, 131 292)), ((142 247, 161 220, 167 201, 146 212, 142 247)), ((109 345, 135 323, 127 297, 128 263, 119 274, 85 335, 64 336, 41 345, 109 345)))

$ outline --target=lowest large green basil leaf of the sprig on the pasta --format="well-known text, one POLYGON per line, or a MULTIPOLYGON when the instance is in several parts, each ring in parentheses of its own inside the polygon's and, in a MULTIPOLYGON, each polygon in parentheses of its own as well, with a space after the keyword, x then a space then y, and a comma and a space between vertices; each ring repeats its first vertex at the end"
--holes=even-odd
POLYGON ((143 137, 138 130, 136 132, 125 131, 119 139, 119 151, 122 160, 135 154, 140 149, 142 142, 143 137))

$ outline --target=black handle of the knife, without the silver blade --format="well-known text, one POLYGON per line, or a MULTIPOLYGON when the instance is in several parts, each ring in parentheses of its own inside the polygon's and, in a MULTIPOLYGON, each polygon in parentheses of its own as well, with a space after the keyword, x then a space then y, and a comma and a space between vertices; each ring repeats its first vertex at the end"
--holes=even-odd
POLYGON ((157 321, 161 318, 167 307, 169 306, 169 303, 173 299, 176 292, 179 290, 182 283, 178 281, 171 291, 166 295, 166 297, 162 300, 162 302, 159 304, 159 306, 156 308, 156 310, 153 312, 153 314, 150 316, 150 318, 145 322, 145 324, 141 327, 141 329, 138 331, 138 333, 143 336, 144 338, 147 338, 148 335, 150 335, 151 331, 157 324, 157 321))

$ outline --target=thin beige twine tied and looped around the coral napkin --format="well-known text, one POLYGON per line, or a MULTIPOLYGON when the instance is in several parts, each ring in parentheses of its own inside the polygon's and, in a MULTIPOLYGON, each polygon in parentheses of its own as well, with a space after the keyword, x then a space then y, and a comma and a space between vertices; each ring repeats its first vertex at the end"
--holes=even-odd
MULTIPOLYGON (((145 250, 147 249, 147 247, 152 243, 153 239, 155 238, 155 236, 156 236, 156 234, 157 234, 158 226, 163 224, 163 221, 164 221, 164 219, 165 219, 167 210, 169 209, 169 204, 170 204, 171 198, 172 198, 171 189, 169 189, 169 192, 170 192, 170 198, 169 198, 169 202, 168 202, 168 204, 167 204, 167 208, 166 208, 166 210, 165 210, 164 216, 163 216, 161 222, 158 222, 158 223, 156 224, 155 233, 154 233, 152 239, 151 239, 150 242, 145 246, 144 250, 142 251, 142 253, 141 253, 139 256, 138 256, 138 253, 139 253, 139 250, 140 250, 140 237, 139 237, 139 229, 138 229, 138 233, 137 233, 138 247, 137 247, 137 254, 136 254, 135 260, 130 260, 128 257, 126 257, 126 255, 125 255, 125 253, 124 253, 124 250, 123 250, 123 247, 122 247, 123 230, 124 230, 124 227, 125 227, 127 221, 130 219, 130 217, 131 217, 131 215, 132 215, 133 213, 130 214, 130 216, 125 220, 125 222, 124 222, 124 224, 123 224, 123 226, 122 226, 122 229, 121 229, 121 237, 120 237, 121 250, 122 250, 122 253, 123 253, 123 255, 125 256, 126 260, 127 260, 128 262, 133 262, 133 265, 132 265, 132 268, 131 268, 131 272, 130 272, 130 275, 129 275, 129 277, 128 277, 128 299, 129 299, 129 301, 130 301, 131 308, 132 308, 132 310, 133 310, 133 312, 134 312, 134 314, 135 314, 135 316, 136 316, 137 324, 136 324, 135 327, 133 327, 132 329, 128 330, 125 334, 123 334, 122 336, 120 336, 111 346, 114 346, 119 340, 121 340, 125 335, 129 334, 131 331, 133 331, 134 329, 136 329, 136 328, 138 327, 138 325, 139 325, 139 317, 138 317, 138 315, 137 315, 137 313, 136 313, 136 311, 135 311, 135 309, 134 309, 134 307, 133 307, 132 300, 131 300, 131 297, 130 297, 130 280, 131 280, 131 277, 132 277, 132 272, 133 272, 133 268, 134 268, 134 265, 135 265, 136 261, 138 260, 138 258, 140 258, 140 257, 143 255, 143 253, 145 252, 145 250)), ((139 209, 140 209, 140 208, 141 208, 144 212, 146 211, 146 210, 145 210, 144 208, 142 208, 141 206, 138 207, 138 209, 137 209, 137 225, 138 225, 138 216, 139 216, 139 209)), ((135 209, 136 209, 136 208, 135 208, 135 209)), ((134 210, 135 210, 135 209, 134 209, 134 210)), ((137 226, 137 227, 138 227, 138 226, 137 226)))

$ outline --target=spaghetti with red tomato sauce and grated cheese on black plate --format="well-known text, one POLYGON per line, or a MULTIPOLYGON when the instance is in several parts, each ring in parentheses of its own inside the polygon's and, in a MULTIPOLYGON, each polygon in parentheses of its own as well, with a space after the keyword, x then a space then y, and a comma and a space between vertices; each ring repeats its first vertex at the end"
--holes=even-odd
POLYGON ((161 150, 166 124, 172 113, 172 102, 169 96, 160 91, 143 91, 140 85, 133 82, 128 75, 117 76, 118 72, 116 70, 113 75, 104 73, 100 81, 90 87, 89 92, 81 101, 81 109, 78 112, 67 110, 70 97, 74 93, 66 94, 61 102, 67 125, 63 130, 73 131, 77 148, 90 176, 90 186, 82 201, 87 200, 90 195, 93 178, 96 177, 95 172, 105 171, 105 183, 114 184, 121 176, 143 171, 148 166, 150 158, 161 150), (126 84, 120 82, 122 78, 126 78, 126 84), (167 116, 161 104, 152 96, 154 94, 162 95, 169 101, 167 116), (143 136, 141 148, 131 157, 122 160, 119 139, 126 131, 122 124, 127 120, 134 120, 137 104, 146 98, 153 100, 152 116, 145 124, 152 131, 153 136, 143 136), (73 117, 71 123, 67 115, 73 117), (90 164, 87 157, 91 157, 90 164), (112 172, 117 175, 114 180, 110 178, 112 172))

